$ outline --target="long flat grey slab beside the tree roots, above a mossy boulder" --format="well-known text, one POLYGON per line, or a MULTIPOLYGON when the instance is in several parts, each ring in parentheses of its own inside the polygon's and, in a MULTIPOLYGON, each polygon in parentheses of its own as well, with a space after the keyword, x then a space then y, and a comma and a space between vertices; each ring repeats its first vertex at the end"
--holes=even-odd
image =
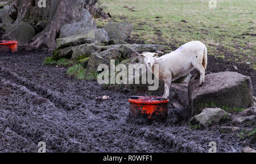
POLYGON ((94 36, 95 36, 94 31, 90 31, 89 33, 86 33, 85 35, 73 35, 73 36, 58 38, 58 39, 56 39, 57 49, 79 45, 79 44, 77 44, 77 42, 79 40, 84 40, 84 43, 81 42, 81 44, 88 43, 88 39, 93 40, 92 41, 92 43, 93 43, 94 36))

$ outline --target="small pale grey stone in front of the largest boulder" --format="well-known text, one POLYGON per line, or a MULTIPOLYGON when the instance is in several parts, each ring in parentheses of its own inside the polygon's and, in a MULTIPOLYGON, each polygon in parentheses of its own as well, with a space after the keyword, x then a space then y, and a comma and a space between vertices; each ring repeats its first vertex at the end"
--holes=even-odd
POLYGON ((217 124, 225 115, 221 108, 205 108, 199 115, 195 115, 190 120, 192 125, 199 124, 207 128, 209 125, 217 124))

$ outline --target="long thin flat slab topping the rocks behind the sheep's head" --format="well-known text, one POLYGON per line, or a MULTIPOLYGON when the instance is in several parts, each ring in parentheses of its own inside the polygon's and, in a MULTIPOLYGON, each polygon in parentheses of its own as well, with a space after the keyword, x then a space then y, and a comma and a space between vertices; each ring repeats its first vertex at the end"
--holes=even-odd
MULTIPOLYGON (((137 51, 139 53, 142 52, 155 52, 155 51, 164 51, 167 48, 164 47, 163 45, 159 45, 159 44, 122 44, 125 45, 126 47, 129 47, 131 49, 133 49, 134 51, 137 51)), ((101 50, 104 51, 106 49, 109 48, 118 48, 121 45, 107 45, 107 46, 101 46, 101 50)))

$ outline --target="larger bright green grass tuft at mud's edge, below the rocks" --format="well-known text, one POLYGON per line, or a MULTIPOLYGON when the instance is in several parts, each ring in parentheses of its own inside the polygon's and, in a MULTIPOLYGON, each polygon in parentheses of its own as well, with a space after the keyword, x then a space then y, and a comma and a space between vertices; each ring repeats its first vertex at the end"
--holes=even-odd
POLYGON ((85 69, 82 68, 81 64, 73 65, 68 69, 67 74, 73 78, 85 79, 85 69))

